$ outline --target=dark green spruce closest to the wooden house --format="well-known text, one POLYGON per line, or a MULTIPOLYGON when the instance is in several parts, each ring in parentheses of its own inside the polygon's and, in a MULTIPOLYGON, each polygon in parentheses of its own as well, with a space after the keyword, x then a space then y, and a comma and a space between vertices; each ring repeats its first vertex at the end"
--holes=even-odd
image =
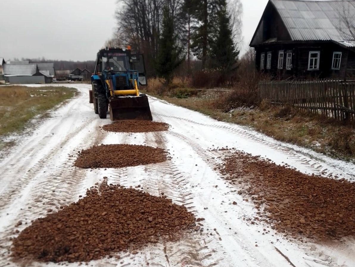
POLYGON ((217 25, 217 37, 211 47, 211 65, 228 72, 236 65, 239 51, 233 41, 226 0, 220 0, 217 25))

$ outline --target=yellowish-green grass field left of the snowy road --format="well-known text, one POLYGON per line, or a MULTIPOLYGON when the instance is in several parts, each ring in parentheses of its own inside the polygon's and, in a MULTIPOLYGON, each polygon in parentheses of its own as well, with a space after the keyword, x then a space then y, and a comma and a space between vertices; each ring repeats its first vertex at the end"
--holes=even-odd
POLYGON ((67 87, 0 87, 0 137, 20 133, 31 119, 48 116, 48 110, 75 93, 67 87))

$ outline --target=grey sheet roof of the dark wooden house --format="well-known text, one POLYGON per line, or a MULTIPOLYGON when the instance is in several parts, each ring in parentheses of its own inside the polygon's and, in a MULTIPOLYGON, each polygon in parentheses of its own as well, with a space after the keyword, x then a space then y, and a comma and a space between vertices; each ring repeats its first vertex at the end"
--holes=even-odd
POLYGON ((270 0, 293 41, 355 40, 355 1, 270 0))

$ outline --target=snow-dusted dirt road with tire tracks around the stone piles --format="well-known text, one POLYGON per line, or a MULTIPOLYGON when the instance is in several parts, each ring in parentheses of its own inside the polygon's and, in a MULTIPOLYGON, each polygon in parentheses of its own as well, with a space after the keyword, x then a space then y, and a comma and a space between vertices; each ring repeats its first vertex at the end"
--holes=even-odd
MULTIPOLYGON (((214 119, 164 101, 150 98, 153 119, 170 124, 167 132, 110 133, 88 104, 90 86, 70 85, 80 94, 53 112, 31 136, 24 137, 0 163, 0 266, 24 266, 10 260, 10 237, 47 210, 77 201, 86 188, 101 182, 140 184, 149 193, 164 192, 203 217, 203 231, 178 242, 154 244, 137 255, 121 254, 92 261, 92 266, 355 266, 354 240, 325 245, 295 243, 275 233, 262 234, 267 225, 248 224, 252 204, 242 201, 236 187, 225 182, 214 167, 225 146, 268 157, 304 173, 355 179, 355 166, 315 152, 286 145, 245 127, 214 119), (146 144, 169 150, 172 160, 121 169, 81 169, 73 166, 76 154, 95 144, 146 144), (149 189, 147 189, 149 188, 149 189), (237 205, 232 205, 235 201, 237 205), (23 224, 15 228, 18 221, 23 224), (25 222, 28 222, 26 225, 25 222), (214 230, 215 229, 215 230, 214 230), (256 246, 257 245, 257 246, 256 246)), ((54 263, 26 263, 56 266, 54 263)), ((25 264, 25 265, 26 265, 25 264)), ((78 266, 70 263, 69 266, 78 266)))

